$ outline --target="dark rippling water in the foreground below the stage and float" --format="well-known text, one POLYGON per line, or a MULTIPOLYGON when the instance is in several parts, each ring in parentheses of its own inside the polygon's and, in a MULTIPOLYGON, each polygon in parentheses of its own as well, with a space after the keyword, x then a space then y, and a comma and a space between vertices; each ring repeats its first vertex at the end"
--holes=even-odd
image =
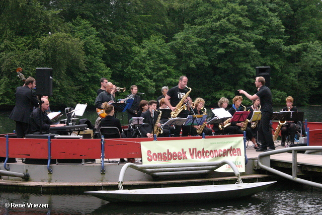
POLYGON ((0 214, 322 214, 322 189, 278 183, 248 198, 225 201, 128 204, 90 195, 47 195, 0 191, 0 214), (12 208, 5 203, 48 204, 48 208, 12 208))

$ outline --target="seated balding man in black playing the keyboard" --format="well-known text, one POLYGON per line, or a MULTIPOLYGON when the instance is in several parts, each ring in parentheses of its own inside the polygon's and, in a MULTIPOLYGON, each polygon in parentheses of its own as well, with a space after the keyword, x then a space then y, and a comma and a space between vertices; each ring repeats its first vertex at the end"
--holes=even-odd
POLYGON ((48 99, 41 98, 41 110, 40 108, 34 109, 30 114, 30 125, 33 133, 40 131, 40 114, 41 114, 41 131, 48 132, 50 127, 60 127, 66 124, 57 124, 51 121, 47 115, 49 109, 48 99))

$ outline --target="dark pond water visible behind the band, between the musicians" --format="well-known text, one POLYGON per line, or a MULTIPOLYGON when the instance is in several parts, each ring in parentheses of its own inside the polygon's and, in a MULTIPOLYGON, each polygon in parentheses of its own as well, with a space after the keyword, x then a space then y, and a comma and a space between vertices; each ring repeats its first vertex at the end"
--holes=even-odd
MULTIPOLYGON (((279 111, 283 107, 275 106, 274 111, 279 111)), ((304 112, 304 119, 307 119, 307 121, 310 122, 322 122, 322 106, 303 106, 298 108, 299 111, 304 112)), ((208 112, 210 112, 210 107, 207 107, 208 112)), ((52 111, 59 111, 56 109, 52 109, 52 111)), ((64 110, 60 110, 61 112, 64 112, 64 110)), ((10 120, 8 117, 10 115, 11 111, 0 111, 0 133, 11 133, 13 130, 15 130, 16 124, 15 121, 10 120)), ((98 115, 95 111, 95 108, 93 107, 87 107, 85 113, 83 116, 79 116, 77 118, 83 119, 87 118, 89 119, 92 124, 95 124, 95 120, 97 119, 98 115)), ((59 120, 65 119, 65 114, 62 115, 59 120)), ((121 124, 127 124, 127 113, 117 113, 117 118, 121 120, 121 124)))

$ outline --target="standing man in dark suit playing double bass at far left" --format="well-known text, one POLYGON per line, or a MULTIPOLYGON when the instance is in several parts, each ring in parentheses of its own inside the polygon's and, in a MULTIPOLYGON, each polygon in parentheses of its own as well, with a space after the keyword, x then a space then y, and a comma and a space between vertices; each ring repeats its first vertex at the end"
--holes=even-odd
POLYGON ((17 138, 24 138, 31 132, 29 120, 34 107, 38 107, 38 99, 35 91, 36 80, 29 77, 23 87, 16 89, 16 106, 12 110, 9 119, 16 121, 17 138))

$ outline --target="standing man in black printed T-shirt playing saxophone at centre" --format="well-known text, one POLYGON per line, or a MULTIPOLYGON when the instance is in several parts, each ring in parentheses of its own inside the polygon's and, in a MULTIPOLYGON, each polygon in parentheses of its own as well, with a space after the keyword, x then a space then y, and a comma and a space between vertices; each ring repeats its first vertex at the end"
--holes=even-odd
MULTIPOLYGON (((188 83, 188 78, 185 76, 181 76, 179 78, 178 86, 173 87, 168 91, 165 97, 165 102, 168 105, 168 107, 171 109, 171 111, 176 110, 177 108, 176 106, 178 105, 178 103, 180 103, 182 98, 184 98, 186 93, 188 93, 188 89, 186 89, 187 83, 188 83)), ((190 97, 187 97, 187 99, 185 99, 184 102, 187 103, 188 99, 190 99, 190 97)), ((188 111, 182 110, 177 117, 187 118, 187 116, 188 116, 188 111)), ((182 136, 188 136, 189 126, 176 126, 174 136, 180 136, 181 128, 182 128, 182 136)))

